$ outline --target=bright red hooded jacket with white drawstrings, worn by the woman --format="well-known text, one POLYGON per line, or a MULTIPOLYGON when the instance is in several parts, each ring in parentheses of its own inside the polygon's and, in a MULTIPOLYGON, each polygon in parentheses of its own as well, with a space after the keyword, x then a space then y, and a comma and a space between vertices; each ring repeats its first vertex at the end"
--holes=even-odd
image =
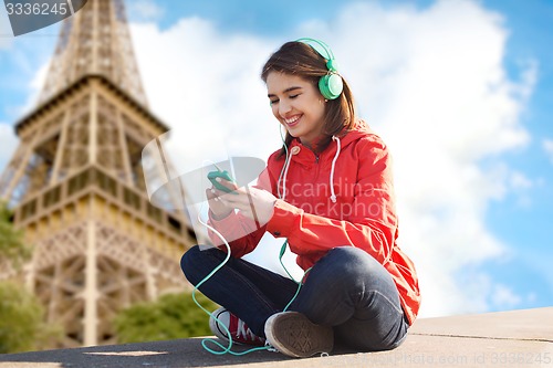
MULTIPOLYGON (((234 257, 253 251, 265 231, 288 238, 303 269, 313 266, 336 246, 359 248, 392 274, 409 324, 420 293, 415 266, 397 245, 392 158, 383 140, 359 120, 316 156, 299 140, 286 162, 279 151, 268 160, 257 187, 272 192, 274 214, 264 225, 231 213, 210 222, 221 231, 234 257)), ((215 243, 220 240, 210 232, 215 243)))

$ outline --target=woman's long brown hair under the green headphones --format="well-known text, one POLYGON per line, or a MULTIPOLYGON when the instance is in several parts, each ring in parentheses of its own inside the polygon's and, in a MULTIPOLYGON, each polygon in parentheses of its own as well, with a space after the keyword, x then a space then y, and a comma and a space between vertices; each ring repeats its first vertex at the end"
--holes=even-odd
MULTIPOLYGON (((267 61, 261 72, 261 80, 267 83, 267 76, 271 72, 298 75, 313 83, 319 91, 319 80, 328 73, 326 60, 312 46, 299 41, 284 43, 267 61)), ((335 99, 328 99, 324 111, 323 138, 319 141, 316 153, 324 150, 332 140, 333 135, 341 135, 351 130, 355 123, 355 107, 352 91, 344 82, 344 90, 335 99)), ((285 145, 294 138, 286 133, 285 145)), ((285 154, 282 148, 281 156, 285 154)))

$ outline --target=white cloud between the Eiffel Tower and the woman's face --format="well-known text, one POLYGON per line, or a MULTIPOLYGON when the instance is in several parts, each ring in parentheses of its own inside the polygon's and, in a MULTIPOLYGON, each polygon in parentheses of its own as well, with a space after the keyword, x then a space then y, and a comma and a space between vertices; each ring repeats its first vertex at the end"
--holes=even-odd
POLYGON ((265 159, 278 147, 279 125, 259 77, 273 43, 220 34, 197 18, 164 32, 153 24, 132 31, 150 107, 173 128, 169 146, 181 171, 197 157, 265 159))

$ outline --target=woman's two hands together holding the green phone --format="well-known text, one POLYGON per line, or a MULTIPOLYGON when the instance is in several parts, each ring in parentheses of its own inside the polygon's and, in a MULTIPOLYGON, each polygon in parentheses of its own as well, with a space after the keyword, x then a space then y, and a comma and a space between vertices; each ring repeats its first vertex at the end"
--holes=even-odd
POLYGON ((236 183, 221 178, 217 178, 217 180, 232 192, 227 193, 216 188, 206 190, 209 208, 216 220, 226 218, 234 209, 240 210, 247 218, 259 222, 260 225, 264 225, 271 220, 276 201, 276 197, 272 193, 258 188, 238 188, 236 183))

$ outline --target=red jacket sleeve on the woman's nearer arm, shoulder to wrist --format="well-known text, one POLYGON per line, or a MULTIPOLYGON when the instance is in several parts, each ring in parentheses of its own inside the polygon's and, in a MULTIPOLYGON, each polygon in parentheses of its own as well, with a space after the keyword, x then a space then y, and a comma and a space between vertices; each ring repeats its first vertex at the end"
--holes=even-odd
MULTIPOLYGON (((299 255, 325 253, 341 245, 365 250, 378 262, 389 261, 397 238, 397 220, 390 157, 379 141, 359 143, 357 182, 351 203, 338 202, 337 218, 307 213, 278 200, 268 231, 285 236, 290 249, 299 255), (340 211, 347 208, 348 211, 340 211), (344 215, 344 213, 348 215, 344 215)), ((347 162, 346 162, 347 164, 347 162)), ((331 211, 332 212, 332 211, 331 211)))

